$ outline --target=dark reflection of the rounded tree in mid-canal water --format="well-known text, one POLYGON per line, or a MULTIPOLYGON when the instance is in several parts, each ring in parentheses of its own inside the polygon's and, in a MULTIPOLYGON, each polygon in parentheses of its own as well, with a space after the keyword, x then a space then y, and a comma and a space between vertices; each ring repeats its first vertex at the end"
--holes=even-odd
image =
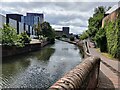
POLYGON ((44 48, 40 53, 36 53, 36 57, 38 60, 49 60, 54 52, 54 48, 44 48))

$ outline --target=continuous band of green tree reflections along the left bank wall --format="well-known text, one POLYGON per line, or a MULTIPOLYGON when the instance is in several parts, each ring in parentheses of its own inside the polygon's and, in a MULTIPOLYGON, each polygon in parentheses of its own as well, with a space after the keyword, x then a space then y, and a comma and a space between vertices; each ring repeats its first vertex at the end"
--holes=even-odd
POLYGON ((54 52, 55 49, 53 48, 43 48, 39 52, 4 58, 2 62, 2 76, 3 78, 8 78, 25 70, 30 65, 30 57, 35 56, 38 60, 49 60, 54 52))

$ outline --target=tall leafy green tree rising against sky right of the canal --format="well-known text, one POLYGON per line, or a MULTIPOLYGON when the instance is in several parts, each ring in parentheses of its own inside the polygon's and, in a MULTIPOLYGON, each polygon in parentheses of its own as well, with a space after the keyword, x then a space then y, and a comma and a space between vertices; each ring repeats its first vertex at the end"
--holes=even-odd
POLYGON ((90 17, 88 19, 88 30, 83 32, 83 34, 80 36, 80 39, 86 39, 88 37, 94 38, 98 30, 102 26, 102 19, 105 14, 105 7, 100 6, 98 8, 95 8, 93 17, 90 17))

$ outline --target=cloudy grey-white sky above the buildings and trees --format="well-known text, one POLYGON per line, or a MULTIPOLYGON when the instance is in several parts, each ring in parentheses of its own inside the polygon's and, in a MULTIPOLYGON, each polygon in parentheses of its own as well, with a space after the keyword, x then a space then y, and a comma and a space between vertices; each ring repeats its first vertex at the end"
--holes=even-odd
POLYGON ((80 34, 88 29, 88 19, 98 6, 114 6, 119 0, 0 0, 0 14, 27 12, 43 13, 45 21, 55 30, 70 27, 70 33, 80 34))

